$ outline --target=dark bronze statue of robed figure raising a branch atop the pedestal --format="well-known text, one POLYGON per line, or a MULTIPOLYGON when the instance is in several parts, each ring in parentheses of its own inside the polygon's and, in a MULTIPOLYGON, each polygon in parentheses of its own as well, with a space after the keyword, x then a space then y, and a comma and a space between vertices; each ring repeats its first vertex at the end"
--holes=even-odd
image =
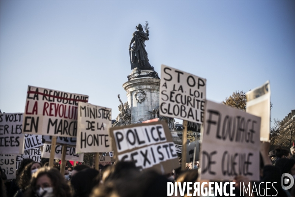
POLYGON ((146 51, 145 41, 148 40, 148 22, 144 32, 143 26, 138 24, 136 26, 137 31, 134 31, 133 37, 129 44, 129 55, 130 55, 130 64, 131 69, 148 69, 154 70, 154 68, 148 62, 148 53, 146 51), (133 43, 133 46, 131 46, 133 43))

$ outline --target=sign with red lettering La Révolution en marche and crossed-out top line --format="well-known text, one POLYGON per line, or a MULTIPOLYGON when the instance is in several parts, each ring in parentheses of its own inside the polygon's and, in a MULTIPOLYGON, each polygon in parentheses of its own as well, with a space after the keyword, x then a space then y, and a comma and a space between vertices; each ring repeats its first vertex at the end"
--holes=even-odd
POLYGON ((79 101, 87 103, 88 96, 29 86, 23 132, 76 137, 79 101))

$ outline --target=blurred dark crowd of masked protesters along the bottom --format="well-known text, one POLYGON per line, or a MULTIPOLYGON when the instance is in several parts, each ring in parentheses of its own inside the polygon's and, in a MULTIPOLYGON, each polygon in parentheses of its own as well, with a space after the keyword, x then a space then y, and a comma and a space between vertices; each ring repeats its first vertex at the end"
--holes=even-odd
MULTIPOLYGON (((249 188, 260 185, 258 190, 263 190, 267 188, 266 182, 278 183, 278 187, 268 189, 267 196, 295 197, 295 187, 289 190, 281 187, 283 173, 295 177, 294 144, 290 151, 277 147, 269 152, 269 148, 269 143, 261 144, 260 182, 252 182, 242 175, 235 177, 236 197, 240 196, 240 183, 249 188)), ((67 166, 61 174, 58 163, 50 168, 48 159, 42 158, 41 163, 24 159, 16 179, 7 180, 0 170, 0 197, 166 197, 168 182, 202 181, 198 179, 200 169, 197 161, 195 164, 188 163, 185 171, 181 171, 179 165, 171 173, 162 175, 152 170, 141 171, 132 162, 118 162, 112 166, 100 165, 99 170, 83 164, 67 166)), ((265 192, 251 194, 249 191, 245 194, 253 197, 260 195, 265 196, 265 192)))

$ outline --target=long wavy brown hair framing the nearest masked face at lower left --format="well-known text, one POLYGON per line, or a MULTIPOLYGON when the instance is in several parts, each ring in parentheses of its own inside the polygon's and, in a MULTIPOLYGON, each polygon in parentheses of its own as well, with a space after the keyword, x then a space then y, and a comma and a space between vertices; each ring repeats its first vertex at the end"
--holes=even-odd
POLYGON ((72 197, 71 188, 66 183, 64 177, 60 174, 56 168, 43 167, 35 172, 30 181, 29 188, 25 193, 25 197, 35 196, 35 187, 39 177, 46 175, 51 180, 53 187, 53 193, 55 197, 72 197))

